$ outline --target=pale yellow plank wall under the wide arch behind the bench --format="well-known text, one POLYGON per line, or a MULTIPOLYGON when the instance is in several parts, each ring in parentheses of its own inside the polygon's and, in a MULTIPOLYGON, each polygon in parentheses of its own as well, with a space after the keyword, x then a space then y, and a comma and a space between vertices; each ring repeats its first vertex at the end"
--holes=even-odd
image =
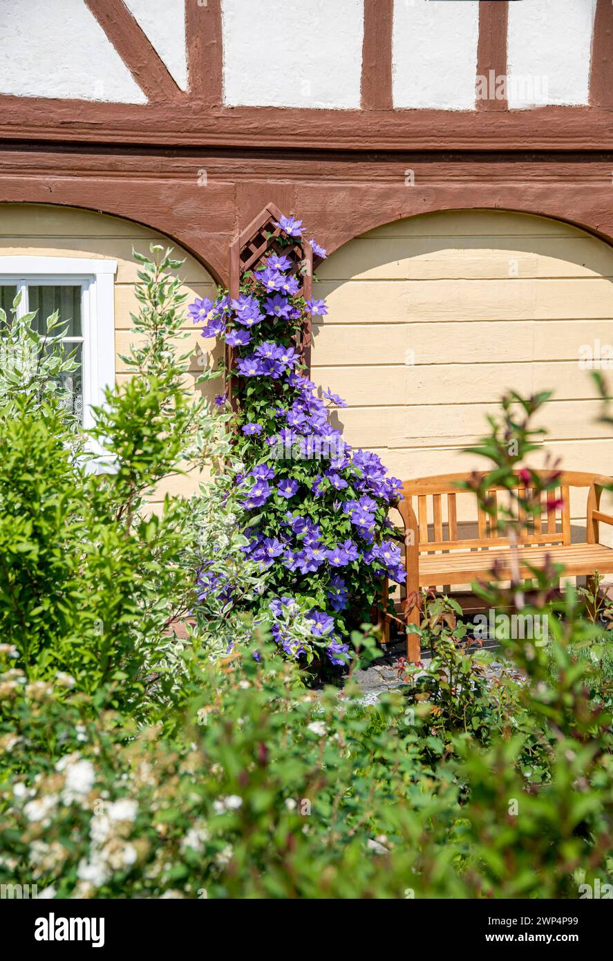
MULTIPOLYGON (((441 212, 356 237, 318 277, 330 312, 315 327, 313 380, 349 402, 346 439, 394 475, 486 466, 461 448, 507 387, 552 388, 547 449, 568 469, 613 474, 613 431, 577 362, 581 344, 613 344, 604 242, 527 214, 441 212)), ((572 514, 584 524, 582 497, 572 514)))

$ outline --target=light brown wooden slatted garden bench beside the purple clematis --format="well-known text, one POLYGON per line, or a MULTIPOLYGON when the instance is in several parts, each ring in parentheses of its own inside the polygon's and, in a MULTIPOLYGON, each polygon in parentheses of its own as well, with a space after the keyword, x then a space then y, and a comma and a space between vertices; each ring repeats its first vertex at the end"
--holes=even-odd
MULTIPOLYGON (((551 472, 535 472, 543 476, 551 472)), ((481 475, 482 476, 482 475, 481 475)), ((411 600, 419 597, 423 587, 448 587, 487 579, 496 564, 503 576, 509 571, 509 540, 499 536, 496 519, 478 505, 477 496, 471 491, 458 490, 460 481, 468 480, 466 474, 444 474, 438 477, 405 480, 399 510, 405 526, 406 602, 405 623, 419 624, 419 606, 411 600), (468 520, 458 521, 456 499, 468 501, 468 520), (466 533, 462 529, 472 528, 466 533), (476 530, 477 536, 474 536, 476 530)), ((544 511, 538 516, 522 518, 519 535, 520 573, 530 577, 527 564, 540 568, 546 558, 564 565, 565 575, 593 576, 613 572, 613 550, 599 543, 599 524, 613 525, 613 516, 601 513, 601 492, 613 486, 613 479, 601 474, 564 471, 559 475, 557 486, 543 493, 544 511), (571 543, 572 488, 587 491, 586 532, 581 543, 571 543), (561 500, 562 505, 547 508, 545 499, 561 500)), ((518 476, 518 491, 525 491, 526 484, 518 476)), ((529 489, 529 488, 528 488, 529 489)), ((491 488, 490 493, 498 499, 502 487, 491 488)), ((500 502, 499 502, 500 503, 500 502)), ((389 615, 385 617, 386 636, 389 631, 389 615)), ((406 635, 407 660, 420 659, 420 640, 417 634, 406 635)))

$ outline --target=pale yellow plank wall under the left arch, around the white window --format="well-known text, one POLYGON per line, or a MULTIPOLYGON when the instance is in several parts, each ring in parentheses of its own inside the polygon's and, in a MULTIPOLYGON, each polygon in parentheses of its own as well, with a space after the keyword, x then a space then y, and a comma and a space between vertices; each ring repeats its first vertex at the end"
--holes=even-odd
MULTIPOLYGON (((128 220, 110 217, 90 210, 38 206, 25 204, 0 204, 0 256, 33 257, 83 257, 108 258, 117 260, 115 276, 115 370, 121 382, 129 375, 126 364, 119 354, 129 353, 134 341, 131 335, 131 312, 136 312, 138 303, 135 298, 137 264, 132 250, 149 254, 149 244, 162 243, 169 246, 167 237, 157 234, 128 220)), ((174 245, 177 259, 184 259, 178 271, 184 279, 184 290, 188 293, 188 305, 194 297, 207 294, 214 296, 216 285, 205 267, 196 259, 174 245)), ((185 308, 186 309, 186 308, 185 308)), ((204 340, 194 331, 187 318, 185 329, 189 330, 190 344, 194 347, 190 377, 192 381, 201 371, 198 357, 202 351, 210 352, 213 341, 204 340)), ((186 351, 187 341, 181 344, 186 351)), ((202 362, 202 361, 201 361, 202 362)), ((217 382, 213 382, 215 385, 217 382)), ((217 392, 216 390, 213 393, 217 392)), ((156 492, 154 504, 163 497, 165 491, 175 494, 190 494, 197 490, 194 477, 169 478, 156 492)))

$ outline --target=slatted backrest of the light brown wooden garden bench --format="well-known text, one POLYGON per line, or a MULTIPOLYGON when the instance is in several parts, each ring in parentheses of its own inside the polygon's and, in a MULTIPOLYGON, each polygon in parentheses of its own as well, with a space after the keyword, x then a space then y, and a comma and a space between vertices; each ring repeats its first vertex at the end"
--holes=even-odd
MULTIPOLYGON (((543 477, 551 476, 551 471, 534 471, 543 477)), ((492 547, 492 542, 501 547, 508 544, 508 538, 500 536, 497 530, 497 513, 488 514, 478 505, 477 497, 471 491, 458 490, 457 484, 468 480, 467 474, 444 474, 435 477, 405 480, 403 483, 404 500, 399 510, 405 522, 405 530, 414 530, 414 541, 419 544, 420 553, 448 550, 452 547, 462 550, 469 548, 492 547), (457 498, 463 498, 464 506, 472 498, 474 509, 471 515, 458 521, 457 498), (472 527, 475 536, 462 536, 461 529, 472 527)), ((570 544, 571 508, 570 489, 583 487, 587 490, 587 540, 598 541, 598 514, 601 489, 613 481, 600 474, 587 474, 577 471, 563 471, 557 478, 555 488, 541 494, 542 513, 522 517, 520 540, 525 544, 570 544), (561 505, 547 506, 554 501, 561 505)), ((529 491, 526 483, 517 477, 514 490, 529 491)), ((489 488, 495 511, 507 498, 506 488, 489 488)))

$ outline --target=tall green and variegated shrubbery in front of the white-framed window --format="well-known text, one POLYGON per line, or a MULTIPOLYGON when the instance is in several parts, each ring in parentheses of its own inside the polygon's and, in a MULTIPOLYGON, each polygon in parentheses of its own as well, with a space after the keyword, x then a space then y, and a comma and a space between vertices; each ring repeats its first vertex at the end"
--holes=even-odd
POLYGON ((199 606, 203 555, 226 571, 223 547, 245 593, 261 583, 240 554, 245 538, 235 530, 223 473, 200 499, 166 497, 159 513, 147 508, 162 478, 230 457, 227 417, 193 399, 186 356, 173 346, 184 336, 184 295, 168 271, 179 263, 154 253, 155 262, 138 255, 141 308, 133 320, 141 342, 126 358, 137 376, 107 392, 89 435, 76 430, 49 380, 61 381, 71 361, 54 359, 56 347, 33 330, 33 315, 10 330, 12 351, 21 357, 16 345, 25 337, 46 359, 40 370, 26 376, 22 365, 20 378, 0 383, 2 635, 29 681, 67 675, 75 690, 104 688, 111 704, 135 716, 159 712, 177 694, 178 619, 199 610, 200 644, 211 648, 240 629, 227 626, 220 600, 199 606))

